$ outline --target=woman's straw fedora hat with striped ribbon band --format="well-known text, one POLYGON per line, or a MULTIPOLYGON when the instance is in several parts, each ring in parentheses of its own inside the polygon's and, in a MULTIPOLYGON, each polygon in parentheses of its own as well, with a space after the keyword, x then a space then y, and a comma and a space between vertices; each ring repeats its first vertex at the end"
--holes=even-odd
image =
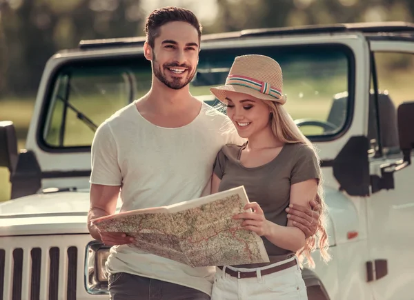
POLYGON ((223 103, 226 103, 226 93, 232 91, 284 104, 286 95, 282 94, 282 88, 279 63, 264 55, 248 54, 236 57, 225 85, 210 88, 210 92, 223 103))

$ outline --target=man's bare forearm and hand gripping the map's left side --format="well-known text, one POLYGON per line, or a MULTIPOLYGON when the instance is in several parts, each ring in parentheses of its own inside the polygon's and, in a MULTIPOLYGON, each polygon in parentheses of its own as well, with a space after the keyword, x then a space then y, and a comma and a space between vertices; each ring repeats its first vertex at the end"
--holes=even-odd
POLYGON ((90 222, 92 219, 105 217, 115 213, 119 188, 119 186, 102 186, 93 183, 90 186, 88 230, 94 239, 102 241, 108 246, 122 245, 133 241, 132 237, 127 237, 124 233, 99 232, 99 229, 90 222))

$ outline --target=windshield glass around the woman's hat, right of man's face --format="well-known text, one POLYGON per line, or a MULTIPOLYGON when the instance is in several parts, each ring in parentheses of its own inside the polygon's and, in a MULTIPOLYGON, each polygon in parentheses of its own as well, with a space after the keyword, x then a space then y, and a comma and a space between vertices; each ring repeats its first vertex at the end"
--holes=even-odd
MULTIPOLYGON (((202 51, 201 51, 202 52, 202 51)), ((238 55, 262 54, 282 68, 284 107, 308 137, 337 134, 348 116, 350 54, 341 47, 262 47, 214 50, 200 56, 191 92, 214 101, 208 88, 221 85, 238 55)))

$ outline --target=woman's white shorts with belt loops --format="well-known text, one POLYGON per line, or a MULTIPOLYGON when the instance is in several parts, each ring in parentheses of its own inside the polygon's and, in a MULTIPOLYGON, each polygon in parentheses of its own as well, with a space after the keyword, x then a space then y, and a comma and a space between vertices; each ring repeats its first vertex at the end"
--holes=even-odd
POLYGON ((296 260, 297 257, 273 263, 262 268, 216 268, 211 300, 307 300, 306 286, 299 263, 290 268, 262 275, 261 270, 296 260), (256 277, 237 278, 224 272, 226 268, 239 272, 256 271, 256 277))

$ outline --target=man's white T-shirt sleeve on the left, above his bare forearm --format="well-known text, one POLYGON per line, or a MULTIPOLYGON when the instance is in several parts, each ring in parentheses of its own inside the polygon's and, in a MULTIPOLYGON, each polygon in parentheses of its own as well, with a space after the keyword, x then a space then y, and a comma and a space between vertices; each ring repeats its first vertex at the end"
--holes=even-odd
POLYGON ((92 141, 92 172, 90 183, 121 186, 122 175, 117 159, 117 144, 108 123, 95 132, 92 141))

